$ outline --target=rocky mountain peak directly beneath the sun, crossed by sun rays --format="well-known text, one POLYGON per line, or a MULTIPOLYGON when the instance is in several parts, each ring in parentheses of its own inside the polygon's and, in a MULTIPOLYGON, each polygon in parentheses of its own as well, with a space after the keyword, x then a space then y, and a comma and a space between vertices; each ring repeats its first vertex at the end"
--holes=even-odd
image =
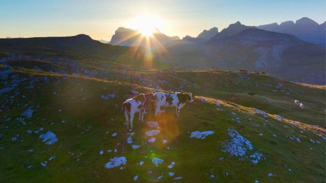
POLYGON ((158 29, 148 38, 142 35, 139 31, 130 28, 119 27, 112 36, 110 44, 120 46, 143 46, 144 48, 161 48, 164 44, 179 40, 177 36, 169 37, 162 34, 158 29))

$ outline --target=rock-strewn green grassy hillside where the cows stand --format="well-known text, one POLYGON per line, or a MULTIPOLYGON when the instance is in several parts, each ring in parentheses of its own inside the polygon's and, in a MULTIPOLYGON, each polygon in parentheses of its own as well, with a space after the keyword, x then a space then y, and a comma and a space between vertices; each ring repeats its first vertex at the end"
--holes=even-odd
POLYGON ((87 59, 55 61, 3 63, 12 66, 13 73, 0 82, 0 89, 17 86, 0 95, 0 182, 133 182, 137 175, 138 182, 325 182, 322 86, 254 73, 155 70, 87 59), (184 90, 195 95, 195 102, 181 109, 180 119, 173 108, 157 119, 150 112, 145 123, 136 115, 132 144, 140 147, 133 149, 127 143, 122 111, 132 89, 141 93, 184 90), (101 98, 108 94, 115 97, 101 98), (300 100, 305 109, 293 100, 300 100), (33 116, 18 121, 28 108, 34 110, 33 116), (266 117, 254 108, 266 112, 266 117), (153 143, 145 135, 153 130, 147 121, 157 121, 160 127, 153 143), (231 139, 228 129, 252 142, 247 156, 260 152, 264 159, 255 164, 248 157, 224 152, 225 141, 231 139), (47 131, 57 135, 56 143, 42 142, 39 136, 47 131), (194 131, 214 134, 190 138, 194 131), (119 166, 123 169, 104 168, 110 159, 121 156, 127 160, 119 166), (49 161, 50 157, 55 158, 49 161), (156 167, 153 158, 164 162, 156 167), (171 162, 175 165, 170 169, 171 162))

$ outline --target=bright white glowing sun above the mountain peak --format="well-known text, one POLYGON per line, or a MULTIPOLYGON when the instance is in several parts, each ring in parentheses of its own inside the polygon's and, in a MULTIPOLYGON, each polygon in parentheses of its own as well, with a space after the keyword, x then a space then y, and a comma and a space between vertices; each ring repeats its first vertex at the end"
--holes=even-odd
POLYGON ((132 27, 144 36, 151 36, 156 28, 162 28, 162 22, 155 16, 142 15, 134 19, 132 27))

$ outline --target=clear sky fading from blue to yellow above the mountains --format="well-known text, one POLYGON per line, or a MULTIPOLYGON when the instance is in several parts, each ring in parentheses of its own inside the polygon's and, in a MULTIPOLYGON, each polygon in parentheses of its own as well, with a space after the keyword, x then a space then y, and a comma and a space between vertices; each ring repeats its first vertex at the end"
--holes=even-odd
POLYGON ((326 1, 90 1, 2 0, 0 38, 74 36, 86 34, 110 41, 122 26, 137 29, 139 17, 154 17, 160 32, 180 38, 196 37, 203 29, 240 21, 245 25, 281 23, 309 17, 326 20, 326 1))

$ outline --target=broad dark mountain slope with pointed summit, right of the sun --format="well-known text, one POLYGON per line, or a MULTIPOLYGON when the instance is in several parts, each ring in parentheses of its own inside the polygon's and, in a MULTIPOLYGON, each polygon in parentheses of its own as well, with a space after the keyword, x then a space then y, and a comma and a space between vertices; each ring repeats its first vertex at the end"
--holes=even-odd
POLYGON ((236 23, 206 43, 176 44, 156 55, 181 68, 248 69, 292 81, 325 84, 323 47, 289 34, 248 27, 236 23))

